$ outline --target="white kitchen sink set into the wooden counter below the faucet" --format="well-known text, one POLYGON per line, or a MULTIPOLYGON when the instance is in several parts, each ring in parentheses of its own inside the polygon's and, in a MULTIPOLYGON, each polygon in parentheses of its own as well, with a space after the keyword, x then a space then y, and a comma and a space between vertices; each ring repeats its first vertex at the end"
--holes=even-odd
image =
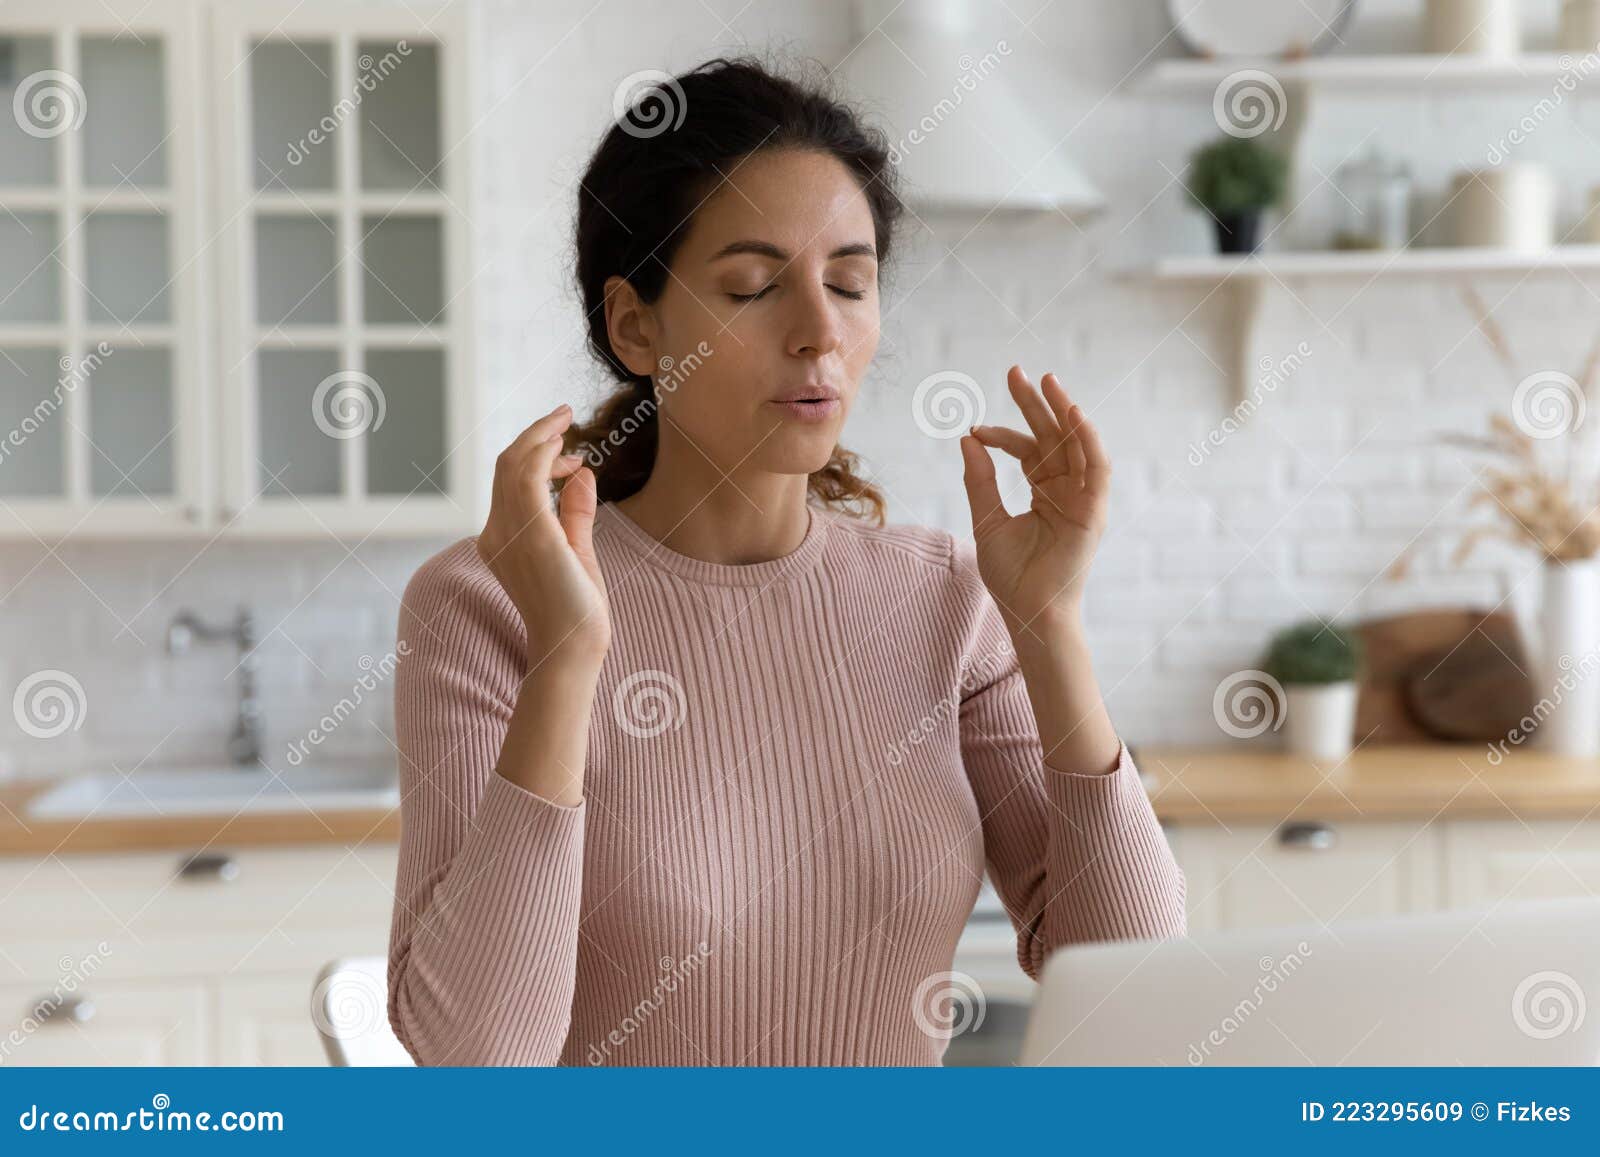
POLYGON ((264 811, 339 811, 400 803, 394 767, 320 765, 272 773, 240 767, 165 767, 130 775, 93 771, 35 795, 37 819, 154 819, 264 811))

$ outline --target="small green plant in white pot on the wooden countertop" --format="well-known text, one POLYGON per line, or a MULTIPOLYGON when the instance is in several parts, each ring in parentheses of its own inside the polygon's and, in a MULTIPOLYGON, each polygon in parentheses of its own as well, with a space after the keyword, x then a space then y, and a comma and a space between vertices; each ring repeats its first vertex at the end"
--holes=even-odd
POLYGON ((1261 667, 1283 687, 1283 743, 1309 759, 1341 760, 1355 735, 1362 640, 1326 619, 1307 619, 1272 637, 1261 667))

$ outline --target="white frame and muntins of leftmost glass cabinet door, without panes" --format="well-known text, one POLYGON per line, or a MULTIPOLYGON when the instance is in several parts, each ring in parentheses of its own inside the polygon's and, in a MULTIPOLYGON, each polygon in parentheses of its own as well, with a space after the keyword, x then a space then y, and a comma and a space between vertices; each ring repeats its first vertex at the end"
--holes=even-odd
MULTIPOLYGON (((130 8, 123 5, 123 8, 130 8)), ((208 240, 205 237, 205 136, 197 110, 200 88, 200 11, 190 0, 149 0, 130 8, 128 19, 99 0, 14 0, 0 8, 0 34, 48 37, 51 67, 82 75, 85 37, 158 37, 163 43, 163 99, 166 187, 131 189, 85 184, 82 128, 53 138, 58 179, 32 189, 0 189, 5 210, 40 210, 58 216, 66 262, 59 277, 59 322, 0 325, 0 347, 50 347, 62 358, 64 376, 77 376, 99 341, 150 342, 171 352, 173 368, 173 493, 96 498, 91 493, 93 434, 88 395, 58 379, 64 397, 54 421, 62 421, 66 493, 50 498, 0 498, 0 538, 59 541, 72 538, 154 538, 181 534, 205 522, 213 506, 210 466, 210 403, 202 382, 210 365, 208 240), (171 322, 123 325, 94 322, 86 314, 86 243, 82 222, 96 210, 149 211, 166 219, 166 267, 171 322)), ((85 107, 85 115, 94 115, 85 107)), ((110 354, 109 357, 115 357, 110 354)), ((90 379, 88 390, 94 389, 90 379)))

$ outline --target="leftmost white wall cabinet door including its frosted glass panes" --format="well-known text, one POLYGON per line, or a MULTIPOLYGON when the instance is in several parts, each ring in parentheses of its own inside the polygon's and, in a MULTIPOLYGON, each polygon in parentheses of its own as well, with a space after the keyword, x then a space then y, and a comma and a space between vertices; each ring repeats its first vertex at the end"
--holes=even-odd
POLYGON ((182 533, 211 501, 200 29, 0 10, 0 534, 182 533))

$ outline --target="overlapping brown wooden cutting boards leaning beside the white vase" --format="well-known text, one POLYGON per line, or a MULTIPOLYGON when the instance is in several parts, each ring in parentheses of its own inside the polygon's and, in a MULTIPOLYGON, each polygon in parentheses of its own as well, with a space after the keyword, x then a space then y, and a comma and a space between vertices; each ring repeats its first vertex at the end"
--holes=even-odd
POLYGON ((1491 743, 1533 709, 1533 667, 1509 611, 1408 611, 1355 631, 1366 648, 1357 741, 1491 743))

